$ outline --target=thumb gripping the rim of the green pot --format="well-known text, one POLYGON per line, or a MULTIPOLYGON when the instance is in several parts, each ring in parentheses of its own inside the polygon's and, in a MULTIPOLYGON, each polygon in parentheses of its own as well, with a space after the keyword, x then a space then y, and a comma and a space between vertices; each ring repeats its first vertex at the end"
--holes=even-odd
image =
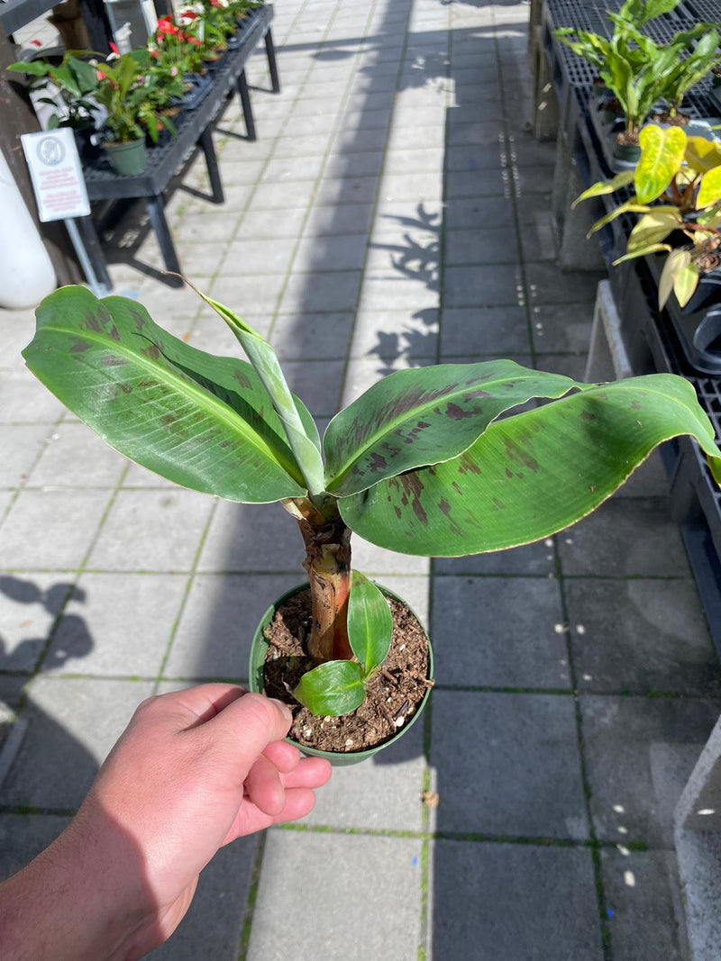
POLYGON ((244 694, 196 730, 222 746, 228 759, 247 773, 269 744, 286 736, 292 720, 286 704, 261 694, 244 694))

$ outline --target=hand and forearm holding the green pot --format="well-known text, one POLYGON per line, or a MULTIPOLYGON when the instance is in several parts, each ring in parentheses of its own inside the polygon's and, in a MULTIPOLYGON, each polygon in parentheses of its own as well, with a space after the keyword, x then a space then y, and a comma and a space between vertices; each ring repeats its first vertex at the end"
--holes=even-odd
POLYGON ((142 957, 180 923, 218 848, 308 814, 331 767, 286 744, 289 727, 285 705, 231 684, 142 702, 75 819, 25 869, 52 887, 62 867, 82 927, 65 954, 56 926, 47 957, 142 957))

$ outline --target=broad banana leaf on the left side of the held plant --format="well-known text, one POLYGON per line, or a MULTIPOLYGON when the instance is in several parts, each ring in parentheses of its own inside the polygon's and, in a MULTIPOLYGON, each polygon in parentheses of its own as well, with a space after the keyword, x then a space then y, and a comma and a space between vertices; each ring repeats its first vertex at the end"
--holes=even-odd
POLYGON ((252 366, 190 347, 135 301, 64 287, 37 309, 23 357, 88 427, 168 480, 246 503, 306 493, 252 366))

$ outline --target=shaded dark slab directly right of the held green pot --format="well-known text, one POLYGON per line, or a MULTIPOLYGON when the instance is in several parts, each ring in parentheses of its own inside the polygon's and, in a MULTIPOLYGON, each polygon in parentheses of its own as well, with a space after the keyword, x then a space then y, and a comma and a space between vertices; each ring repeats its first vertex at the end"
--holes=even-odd
POLYGON ((570 688, 556 579, 442 577, 433 584, 439 684, 570 688))

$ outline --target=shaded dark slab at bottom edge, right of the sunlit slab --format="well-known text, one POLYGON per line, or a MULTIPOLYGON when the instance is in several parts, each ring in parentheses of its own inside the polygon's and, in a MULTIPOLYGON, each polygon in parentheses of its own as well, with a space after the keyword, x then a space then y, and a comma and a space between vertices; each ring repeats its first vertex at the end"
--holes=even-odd
POLYGON ((601 961, 588 850, 436 841, 429 958, 601 961))

